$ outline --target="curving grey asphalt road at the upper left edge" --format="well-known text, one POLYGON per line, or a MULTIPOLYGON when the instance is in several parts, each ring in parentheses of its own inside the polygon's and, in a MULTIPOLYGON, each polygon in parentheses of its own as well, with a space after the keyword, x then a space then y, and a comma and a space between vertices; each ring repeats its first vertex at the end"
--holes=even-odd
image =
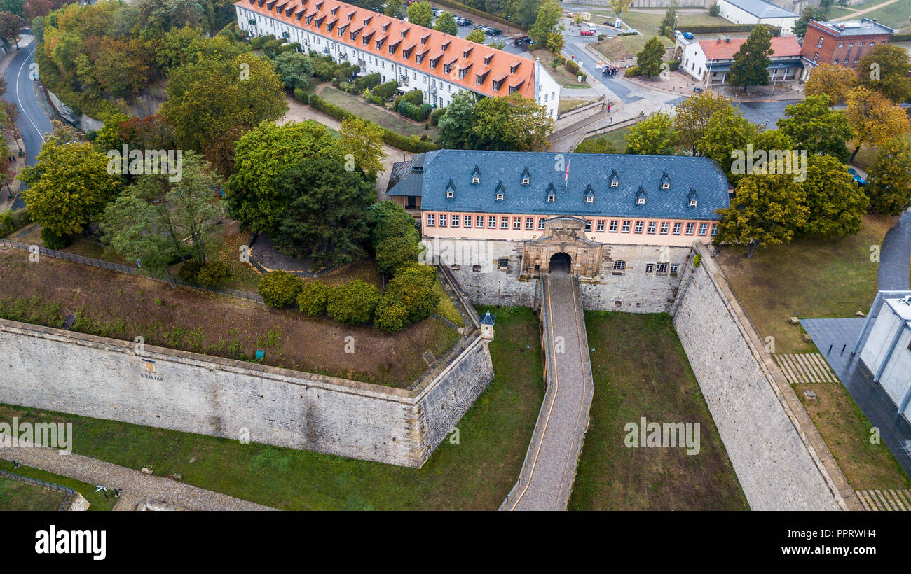
MULTIPOLYGON (((6 68, 4 79, 6 81, 6 94, 4 98, 12 102, 19 110, 19 117, 16 125, 22 133, 22 139, 26 143, 26 166, 35 164, 36 157, 41 151, 41 145, 44 143, 44 134, 51 131, 51 120, 45 115, 38 100, 35 96, 35 88, 32 80, 33 74, 36 74, 37 67, 33 65, 35 59, 32 54, 35 52, 35 41, 24 46, 15 55, 9 67, 6 68)), ((22 189, 26 186, 23 185, 22 189)), ((22 195, 16 198, 14 209, 25 207, 22 201, 22 195)))

